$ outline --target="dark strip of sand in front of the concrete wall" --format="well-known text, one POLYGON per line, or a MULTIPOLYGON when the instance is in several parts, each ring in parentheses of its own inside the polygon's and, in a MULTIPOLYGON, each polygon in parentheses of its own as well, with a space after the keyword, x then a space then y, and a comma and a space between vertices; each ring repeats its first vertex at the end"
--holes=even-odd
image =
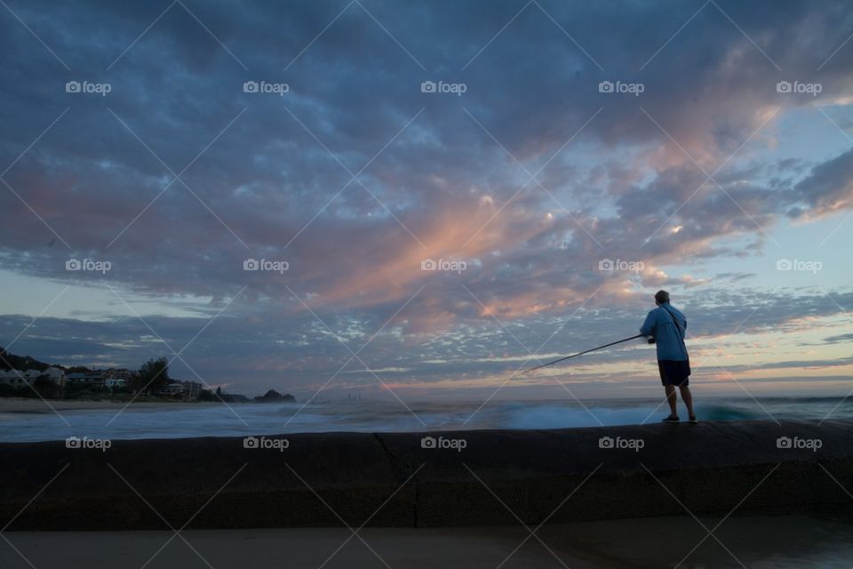
MULTIPOLYGON (((15 532, 0 565, 90 567, 849 567, 853 525, 801 516, 654 517, 501 528, 15 532), (722 523, 721 523, 722 522, 722 523), (713 528, 715 538, 702 527, 713 528), (532 533, 531 532, 535 532, 532 533), (666 547, 660 547, 662 536, 666 547), (186 540, 186 541, 184 541, 186 540), (717 541, 719 540, 719 541, 717 541), (28 561, 25 561, 24 557, 28 561), (847 565, 845 565, 847 564, 847 565)), ((356 528, 354 528, 356 529, 356 528)))

